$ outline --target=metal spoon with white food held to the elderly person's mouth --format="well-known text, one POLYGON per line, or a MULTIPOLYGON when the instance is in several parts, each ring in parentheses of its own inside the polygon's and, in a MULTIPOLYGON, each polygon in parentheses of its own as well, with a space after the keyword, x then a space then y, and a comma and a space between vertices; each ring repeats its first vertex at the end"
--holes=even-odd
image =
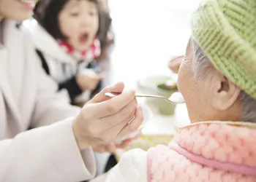
MULTIPOLYGON (((105 96, 108 98, 114 98, 120 94, 121 93, 107 92, 105 93, 105 96)), ((165 98, 160 95, 148 95, 148 94, 140 94, 140 93, 136 93, 135 96, 138 98, 161 98, 166 100, 169 103, 184 103, 184 98, 182 97, 180 92, 174 92, 172 95, 170 95, 170 98, 165 98)))

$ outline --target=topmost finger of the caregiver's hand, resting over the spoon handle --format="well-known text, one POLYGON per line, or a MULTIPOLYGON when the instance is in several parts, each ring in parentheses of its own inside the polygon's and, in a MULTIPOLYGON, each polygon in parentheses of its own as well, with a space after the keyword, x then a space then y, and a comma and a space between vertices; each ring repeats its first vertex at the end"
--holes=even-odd
POLYGON ((123 90, 123 82, 118 82, 113 86, 105 87, 101 92, 99 92, 97 95, 94 96, 94 98, 91 99, 90 103, 101 103, 105 100, 108 100, 109 98, 105 96, 106 92, 123 92, 123 90))

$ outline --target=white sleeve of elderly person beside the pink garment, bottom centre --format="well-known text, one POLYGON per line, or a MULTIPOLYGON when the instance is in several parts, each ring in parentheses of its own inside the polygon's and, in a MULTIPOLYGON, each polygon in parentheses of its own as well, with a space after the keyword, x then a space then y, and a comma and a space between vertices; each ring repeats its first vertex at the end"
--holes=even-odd
POLYGON ((116 167, 90 182, 147 182, 147 152, 141 149, 126 152, 116 167))

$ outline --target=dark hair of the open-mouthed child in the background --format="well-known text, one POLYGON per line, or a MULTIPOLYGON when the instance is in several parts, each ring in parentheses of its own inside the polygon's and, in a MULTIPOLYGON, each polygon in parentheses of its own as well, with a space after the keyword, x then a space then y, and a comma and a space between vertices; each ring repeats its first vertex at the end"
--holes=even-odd
MULTIPOLYGON (((50 33, 51 36, 53 36, 54 39, 67 39, 67 37, 61 33, 59 28, 59 13, 68 1, 69 0, 41 0, 37 3, 34 9, 34 18, 46 31, 48 31, 48 33, 50 33)), ((97 0, 86 1, 91 1, 97 4, 97 0)))

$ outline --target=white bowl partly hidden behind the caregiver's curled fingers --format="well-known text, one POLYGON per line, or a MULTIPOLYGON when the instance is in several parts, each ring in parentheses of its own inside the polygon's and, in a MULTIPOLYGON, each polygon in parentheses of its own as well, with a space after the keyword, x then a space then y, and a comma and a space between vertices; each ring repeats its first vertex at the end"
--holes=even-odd
POLYGON ((148 106, 146 106, 143 103, 138 104, 138 106, 140 106, 143 110, 143 123, 140 125, 140 127, 138 128, 137 131, 130 133, 129 135, 125 136, 124 138, 118 139, 117 141, 115 141, 115 143, 120 144, 125 140, 135 138, 136 136, 138 136, 140 134, 141 130, 143 130, 143 128, 145 127, 147 122, 150 119, 152 119, 153 114, 152 114, 150 108, 148 108, 148 106))

